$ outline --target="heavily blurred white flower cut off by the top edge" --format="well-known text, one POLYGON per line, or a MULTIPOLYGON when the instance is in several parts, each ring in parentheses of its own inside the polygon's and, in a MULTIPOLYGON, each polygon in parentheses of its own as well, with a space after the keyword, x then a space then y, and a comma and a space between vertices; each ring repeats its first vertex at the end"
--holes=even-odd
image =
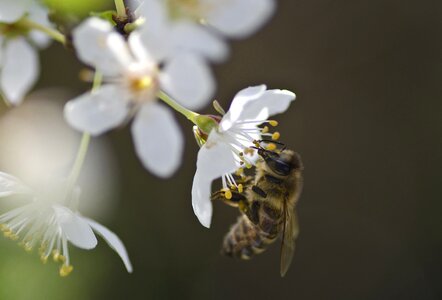
MULTIPOLYGON (((194 52, 222 61, 228 48, 222 36, 245 38, 258 30, 275 8, 274 0, 144 0, 133 5, 145 20, 140 31, 153 53, 194 52)), ((162 57, 164 58, 164 57, 162 57)))

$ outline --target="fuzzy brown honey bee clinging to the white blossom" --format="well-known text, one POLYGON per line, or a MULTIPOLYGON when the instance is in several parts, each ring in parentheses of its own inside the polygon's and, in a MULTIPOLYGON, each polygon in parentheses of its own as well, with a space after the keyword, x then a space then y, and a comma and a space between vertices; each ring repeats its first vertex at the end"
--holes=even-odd
POLYGON ((241 211, 224 237, 221 252, 250 259, 281 237, 280 273, 284 277, 299 234, 296 204, 302 190, 303 166, 299 154, 292 150, 256 149, 260 156, 256 173, 244 178, 243 191, 232 189, 230 199, 223 190, 212 194, 212 200, 222 200, 241 211))

